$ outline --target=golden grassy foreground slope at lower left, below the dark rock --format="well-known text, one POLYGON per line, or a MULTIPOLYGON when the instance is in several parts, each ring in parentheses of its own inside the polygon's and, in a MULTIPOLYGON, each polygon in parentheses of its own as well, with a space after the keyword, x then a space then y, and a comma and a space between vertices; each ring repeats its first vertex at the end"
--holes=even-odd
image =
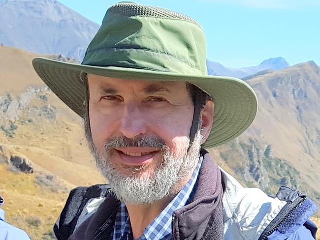
POLYGON ((35 184, 38 174, 14 173, 0 164, 0 195, 5 199, 6 221, 24 229, 32 240, 52 231, 67 197, 67 191, 52 191, 35 184))

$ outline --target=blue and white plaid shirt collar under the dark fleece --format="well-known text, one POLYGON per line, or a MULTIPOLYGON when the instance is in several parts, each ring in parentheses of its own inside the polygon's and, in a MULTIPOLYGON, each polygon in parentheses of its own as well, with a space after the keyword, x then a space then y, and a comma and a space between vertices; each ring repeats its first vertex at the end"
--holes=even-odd
MULTIPOLYGON (((172 240, 172 214, 176 209, 184 207, 197 180, 203 157, 194 169, 191 179, 162 210, 159 215, 143 230, 143 235, 137 240, 172 240)), ((125 203, 121 203, 114 225, 112 240, 133 240, 130 218, 125 203)))

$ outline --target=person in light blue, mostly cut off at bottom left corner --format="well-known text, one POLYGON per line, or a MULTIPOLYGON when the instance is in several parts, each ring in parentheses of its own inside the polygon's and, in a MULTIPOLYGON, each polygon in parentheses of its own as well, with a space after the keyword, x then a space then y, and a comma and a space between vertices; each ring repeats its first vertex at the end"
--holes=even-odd
MULTIPOLYGON (((4 203, 0 196, 0 206, 4 203)), ((30 240, 28 235, 21 229, 16 228, 4 221, 4 210, 0 209, 0 240, 30 240)))

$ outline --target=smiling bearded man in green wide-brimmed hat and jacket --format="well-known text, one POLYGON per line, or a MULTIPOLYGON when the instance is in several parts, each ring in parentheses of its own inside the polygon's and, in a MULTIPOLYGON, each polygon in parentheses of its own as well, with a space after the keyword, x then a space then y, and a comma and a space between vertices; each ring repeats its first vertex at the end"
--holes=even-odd
POLYGON ((120 2, 81 65, 36 58, 33 66, 84 118, 109 183, 71 191, 54 228, 59 240, 315 237, 310 199, 243 188, 203 150, 245 131, 257 100, 244 81, 207 75, 195 20, 120 2))

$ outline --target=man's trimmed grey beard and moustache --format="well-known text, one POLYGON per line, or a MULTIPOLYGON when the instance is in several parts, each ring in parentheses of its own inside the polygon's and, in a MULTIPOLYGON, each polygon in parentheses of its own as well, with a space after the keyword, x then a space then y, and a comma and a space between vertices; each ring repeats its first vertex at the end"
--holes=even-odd
POLYGON ((186 183, 199 160, 202 136, 200 130, 195 135, 189 148, 190 139, 180 144, 181 151, 173 154, 161 139, 147 138, 127 139, 118 137, 108 140, 104 144, 101 157, 91 138, 89 147, 96 159, 96 167, 110 185, 111 191, 122 202, 127 204, 153 203, 167 196, 176 195, 182 188, 179 182, 186 183), (117 147, 153 147, 161 149, 162 161, 155 169, 153 176, 139 176, 139 172, 148 168, 128 167, 131 174, 123 175, 117 171, 112 162, 114 148, 117 147), (189 151, 188 151, 189 148, 189 151))

